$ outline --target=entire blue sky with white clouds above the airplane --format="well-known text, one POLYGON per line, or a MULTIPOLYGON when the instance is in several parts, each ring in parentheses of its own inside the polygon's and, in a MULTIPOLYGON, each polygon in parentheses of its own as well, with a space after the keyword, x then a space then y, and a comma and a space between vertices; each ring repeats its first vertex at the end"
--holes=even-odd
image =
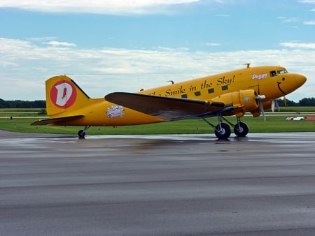
POLYGON ((91 97, 251 66, 306 75, 315 96, 315 0, 1 0, 0 98, 44 100, 69 75, 91 97))

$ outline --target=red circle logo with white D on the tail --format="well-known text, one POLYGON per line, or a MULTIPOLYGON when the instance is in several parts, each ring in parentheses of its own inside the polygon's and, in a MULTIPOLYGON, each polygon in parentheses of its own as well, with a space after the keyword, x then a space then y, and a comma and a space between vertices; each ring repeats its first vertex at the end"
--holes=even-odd
POLYGON ((58 108, 70 108, 76 101, 76 87, 69 81, 59 81, 50 89, 50 100, 58 108))

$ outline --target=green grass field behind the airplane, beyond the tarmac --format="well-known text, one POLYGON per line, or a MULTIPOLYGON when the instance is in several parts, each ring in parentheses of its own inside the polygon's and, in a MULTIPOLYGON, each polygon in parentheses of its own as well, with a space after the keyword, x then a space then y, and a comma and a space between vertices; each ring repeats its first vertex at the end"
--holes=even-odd
MULTIPOLYGON (((314 116, 315 108, 281 108, 281 112, 274 112, 266 115, 267 120, 262 117, 253 118, 246 115, 241 119, 249 126, 250 133, 262 132, 314 132, 315 121, 286 121, 286 117, 295 117, 296 112, 301 112, 298 116, 314 116)), ((31 122, 43 117, 42 110, 4 110, 0 109, 0 129, 6 131, 24 132, 24 133, 66 133, 77 134, 80 126, 30 126, 31 122), (13 117, 13 119, 10 119, 13 117)), ((235 117, 228 117, 228 120, 235 124, 235 117)), ((209 121, 217 124, 216 117, 209 121)), ((146 124, 141 126, 112 126, 91 127, 88 134, 181 134, 181 133, 214 133, 213 128, 206 124, 202 119, 184 119, 180 121, 164 122, 159 124, 146 124)))

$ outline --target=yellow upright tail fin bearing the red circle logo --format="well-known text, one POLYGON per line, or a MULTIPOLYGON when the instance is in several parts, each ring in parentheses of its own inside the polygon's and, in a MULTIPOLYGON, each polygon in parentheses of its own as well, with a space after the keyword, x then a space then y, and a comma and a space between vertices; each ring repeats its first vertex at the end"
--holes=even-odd
POLYGON ((77 110, 89 103, 90 97, 66 75, 58 75, 46 80, 45 87, 48 116, 77 110))

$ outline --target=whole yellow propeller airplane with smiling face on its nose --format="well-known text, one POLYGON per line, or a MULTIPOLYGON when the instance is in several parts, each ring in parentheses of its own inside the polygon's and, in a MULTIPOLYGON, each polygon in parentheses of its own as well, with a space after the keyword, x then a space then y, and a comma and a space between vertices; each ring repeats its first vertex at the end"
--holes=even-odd
POLYGON ((127 126, 201 118, 212 128, 216 137, 243 137, 248 126, 241 122, 245 112, 253 117, 265 116, 264 109, 306 82, 304 75, 288 73, 281 66, 257 66, 228 71, 204 78, 167 84, 137 93, 114 92, 104 98, 90 98, 66 75, 45 82, 46 111, 49 119, 31 125, 85 126, 78 131, 85 137, 90 126, 127 126), (225 116, 234 115, 236 124, 225 116), (218 124, 207 118, 218 117, 218 124), (224 123, 225 121, 226 123, 224 123))

